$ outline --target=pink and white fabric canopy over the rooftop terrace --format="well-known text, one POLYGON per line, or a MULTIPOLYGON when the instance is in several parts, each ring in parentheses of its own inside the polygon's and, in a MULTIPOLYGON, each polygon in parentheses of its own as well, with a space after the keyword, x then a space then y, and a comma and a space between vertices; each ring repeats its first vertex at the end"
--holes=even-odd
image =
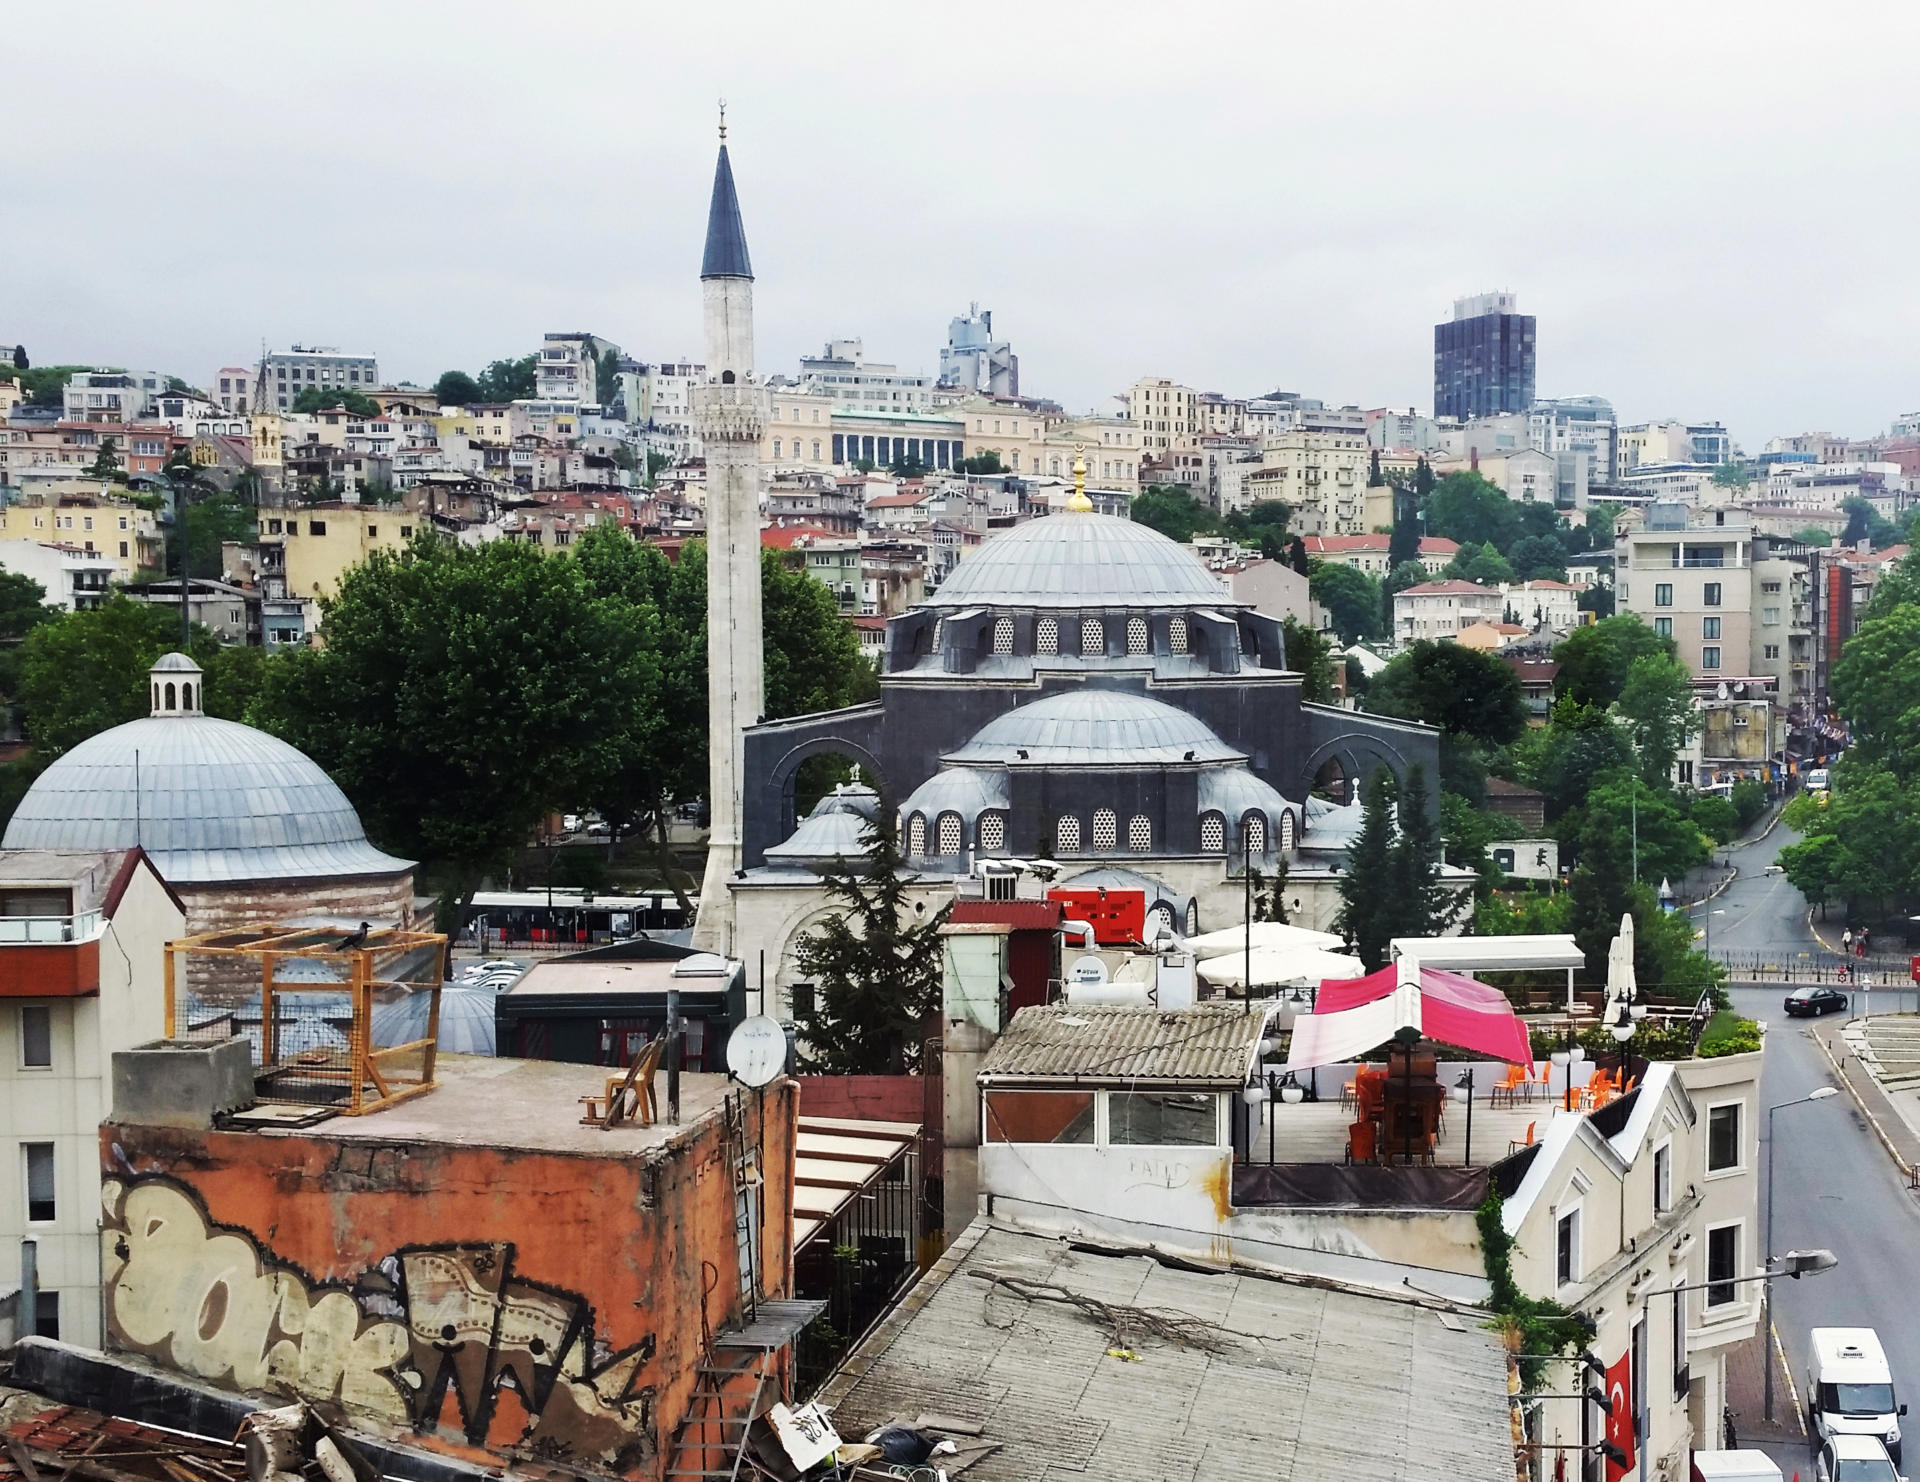
POLYGON ((1321 983, 1313 1012, 1294 1019, 1288 1067, 1356 1060, 1402 1029, 1488 1060, 1532 1065, 1526 1025, 1500 989, 1436 968, 1419 969, 1415 979, 1411 968, 1411 962, 1392 964, 1367 977, 1321 983))

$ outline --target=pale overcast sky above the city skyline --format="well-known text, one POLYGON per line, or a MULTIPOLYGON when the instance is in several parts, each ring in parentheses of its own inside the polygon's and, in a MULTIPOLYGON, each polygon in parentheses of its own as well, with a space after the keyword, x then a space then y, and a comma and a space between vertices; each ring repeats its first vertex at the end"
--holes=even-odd
POLYGON ((1747 451, 1920 407, 1908 4, 38 4, 0 52, 0 342, 432 382, 588 328, 699 357, 714 100, 764 372, 1432 401, 1511 288, 1540 395, 1747 451))

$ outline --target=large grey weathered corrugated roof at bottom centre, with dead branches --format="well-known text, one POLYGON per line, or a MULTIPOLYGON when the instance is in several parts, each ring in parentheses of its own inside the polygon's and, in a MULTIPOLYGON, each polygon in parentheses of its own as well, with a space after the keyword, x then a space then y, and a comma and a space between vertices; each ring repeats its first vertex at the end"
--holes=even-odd
MULTIPOLYGON (((1380 1482, 1513 1478, 1507 1359, 1419 1302, 972 1225, 849 1355, 822 1399, 843 1434, 935 1413, 995 1449, 968 1482, 1380 1482), (1194 1317, 1217 1351, 1158 1340, 1116 1355, 1087 1313, 991 1284, 1194 1317)), ((956 1436, 966 1446, 972 1436, 956 1436)))

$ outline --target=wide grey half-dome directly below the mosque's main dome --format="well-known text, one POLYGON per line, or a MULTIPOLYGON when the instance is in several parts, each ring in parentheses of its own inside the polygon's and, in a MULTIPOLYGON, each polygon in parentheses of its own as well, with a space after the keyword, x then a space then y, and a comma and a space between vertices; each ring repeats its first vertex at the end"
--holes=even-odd
MULTIPOLYGON (((1075 518, 1091 520, 1092 514, 1075 518)), ((1008 710, 952 753, 954 762, 1139 766, 1244 762, 1206 724, 1171 705, 1121 689, 1073 689, 1008 710), (1020 753, 1025 753, 1021 756, 1020 753)))

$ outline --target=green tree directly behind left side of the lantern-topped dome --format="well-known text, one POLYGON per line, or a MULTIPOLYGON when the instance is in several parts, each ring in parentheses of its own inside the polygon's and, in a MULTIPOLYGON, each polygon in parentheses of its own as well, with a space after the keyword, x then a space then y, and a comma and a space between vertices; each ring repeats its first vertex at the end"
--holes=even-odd
POLYGON ((179 637, 177 609, 117 593, 90 612, 33 628, 21 643, 17 699, 35 751, 54 758, 148 714, 146 672, 179 637))

